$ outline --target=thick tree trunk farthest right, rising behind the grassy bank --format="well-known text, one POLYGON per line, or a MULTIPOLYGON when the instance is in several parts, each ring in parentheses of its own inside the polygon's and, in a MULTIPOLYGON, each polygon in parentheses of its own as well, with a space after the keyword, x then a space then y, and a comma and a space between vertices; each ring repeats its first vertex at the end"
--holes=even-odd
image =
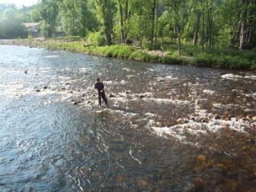
POLYGON ((240 45, 239 49, 244 49, 244 43, 246 41, 246 5, 248 0, 241 0, 241 31, 240 31, 240 45))

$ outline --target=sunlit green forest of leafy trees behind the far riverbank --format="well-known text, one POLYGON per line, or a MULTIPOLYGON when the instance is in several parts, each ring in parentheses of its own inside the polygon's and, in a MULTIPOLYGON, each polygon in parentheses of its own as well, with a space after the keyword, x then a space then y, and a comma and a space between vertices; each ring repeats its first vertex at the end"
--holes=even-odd
POLYGON ((256 67, 256 0, 42 0, 20 9, 1 4, 0 15, 0 38, 22 38, 22 22, 40 22, 45 37, 63 31, 89 45, 136 45, 198 60, 211 52, 256 67))

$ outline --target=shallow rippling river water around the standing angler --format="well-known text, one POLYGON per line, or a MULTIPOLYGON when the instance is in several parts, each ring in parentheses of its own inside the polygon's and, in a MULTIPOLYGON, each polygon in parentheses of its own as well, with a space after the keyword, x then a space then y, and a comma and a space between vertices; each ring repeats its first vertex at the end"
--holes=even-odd
POLYGON ((0 100, 0 191, 256 188, 253 72, 1 45, 0 100))

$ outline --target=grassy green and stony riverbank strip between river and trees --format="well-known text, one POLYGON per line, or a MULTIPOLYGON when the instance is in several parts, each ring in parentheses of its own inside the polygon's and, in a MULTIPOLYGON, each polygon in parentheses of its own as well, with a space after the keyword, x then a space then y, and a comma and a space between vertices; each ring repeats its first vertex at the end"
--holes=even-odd
POLYGON ((215 50, 200 52, 184 50, 182 57, 176 52, 147 51, 131 45, 95 46, 86 45, 83 40, 47 39, 47 40, 8 40, 0 44, 24 45, 29 47, 44 47, 54 50, 83 52, 105 56, 108 58, 124 58, 152 63, 195 65, 197 67, 217 67, 228 69, 256 69, 256 52, 240 50, 215 50))

